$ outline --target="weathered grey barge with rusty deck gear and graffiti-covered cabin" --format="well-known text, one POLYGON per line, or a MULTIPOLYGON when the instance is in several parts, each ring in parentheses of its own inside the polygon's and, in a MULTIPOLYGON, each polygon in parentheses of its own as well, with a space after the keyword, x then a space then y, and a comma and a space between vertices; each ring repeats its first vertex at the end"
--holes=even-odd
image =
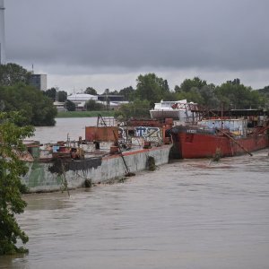
MULTIPOLYGON (((170 127, 170 126, 169 126, 170 127)), ((51 192, 121 180, 135 172, 168 163, 172 146, 167 125, 139 121, 135 125, 85 127, 85 139, 39 144, 25 141, 22 160, 29 170, 22 183, 29 192, 51 192)))

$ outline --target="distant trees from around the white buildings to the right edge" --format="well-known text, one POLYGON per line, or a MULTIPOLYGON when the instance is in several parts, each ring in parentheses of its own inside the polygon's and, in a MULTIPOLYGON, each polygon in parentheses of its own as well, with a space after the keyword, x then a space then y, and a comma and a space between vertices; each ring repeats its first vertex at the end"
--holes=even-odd
MULTIPOLYGON (((159 78, 156 74, 139 75, 136 80, 136 89, 132 86, 120 91, 109 91, 106 89, 103 94, 106 95, 122 95, 124 100, 133 101, 143 100, 149 102, 148 107, 152 108, 155 102, 160 100, 184 100, 193 101, 205 108, 268 108, 269 107, 269 86, 261 90, 252 90, 235 79, 233 82, 224 82, 221 85, 214 85, 201 80, 199 77, 186 79, 179 86, 176 85, 174 90, 169 89, 166 80, 159 78)), ((52 96, 56 96, 54 89, 52 96)), ((65 101, 67 94, 65 91, 59 91, 62 100, 65 101)), ((87 88, 84 93, 97 94, 97 91, 91 87, 87 88)), ((60 96, 60 95, 59 95, 60 96)), ((108 97, 109 100, 109 97, 108 97)), ((133 105, 130 105, 130 109, 133 105)), ((128 107, 128 106, 125 106, 128 107)), ((101 105, 94 105, 94 101, 90 101, 85 105, 85 109, 98 110, 102 109, 101 105)))

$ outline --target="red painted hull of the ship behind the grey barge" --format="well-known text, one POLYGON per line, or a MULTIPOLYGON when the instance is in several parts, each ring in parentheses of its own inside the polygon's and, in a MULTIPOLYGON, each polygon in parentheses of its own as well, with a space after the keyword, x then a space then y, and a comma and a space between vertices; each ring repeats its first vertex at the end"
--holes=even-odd
POLYGON ((195 134, 194 129, 186 127, 172 133, 172 136, 178 157, 182 159, 212 158, 216 153, 228 157, 268 147, 266 130, 233 138, 225 134, 195 134))

